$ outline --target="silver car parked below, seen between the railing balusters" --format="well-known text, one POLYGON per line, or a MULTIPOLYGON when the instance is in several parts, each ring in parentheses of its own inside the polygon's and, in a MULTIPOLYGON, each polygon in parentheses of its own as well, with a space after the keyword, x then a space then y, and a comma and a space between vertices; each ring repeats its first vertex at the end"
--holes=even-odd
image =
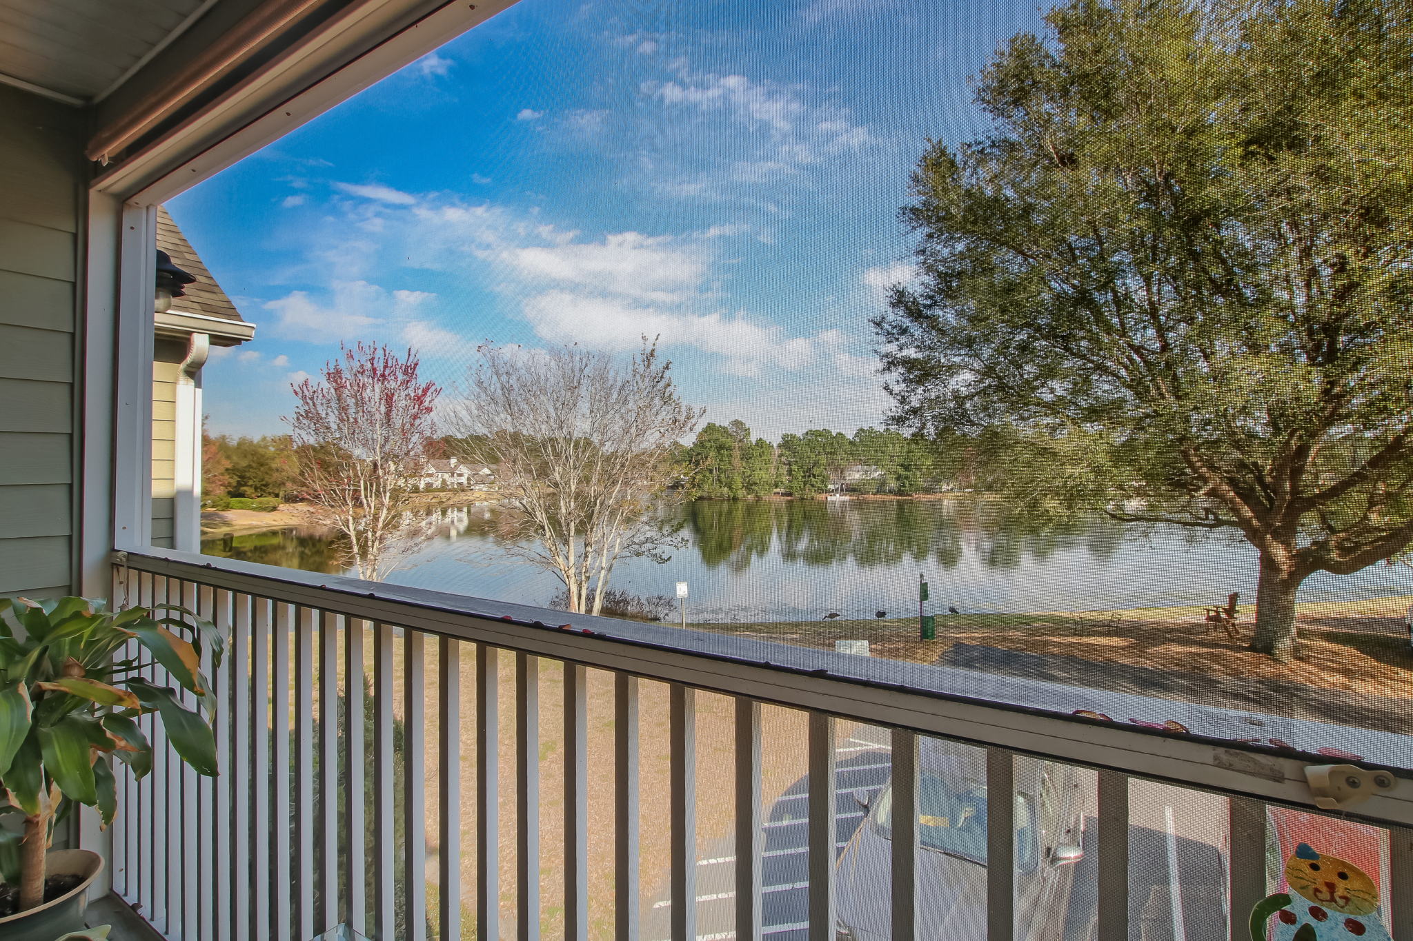
MULTIPOLYGON (((1084 793, 1075 769, 1016 759, 1016 938, 1065 934, 1075 866, 1084 856, 1084 793)), ((892 782, 872 801, 839 858, 839 941, 886 941, 892 782), (882 878, 880 878, 882 873, 882 878)), ((918 749, 918 934, 926 941, 986 938, 986 755, 937 739, 918 749)))

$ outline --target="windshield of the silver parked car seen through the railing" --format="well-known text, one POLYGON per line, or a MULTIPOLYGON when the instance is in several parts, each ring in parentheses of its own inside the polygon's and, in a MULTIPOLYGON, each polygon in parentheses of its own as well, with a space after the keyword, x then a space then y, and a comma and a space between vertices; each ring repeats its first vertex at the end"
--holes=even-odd
MULTIPOLYGON (((958 782, 951 786, 923 772, 917 783, 918 841, 928 849, 986 862, 986 784, 958 782)), ((875 801, 875 825, 892 834, 893 787, 875 801)), ((1016 794, 1016 863, 1024 866, 1034 852, 1034 814, 1029 794, 1016 794)))

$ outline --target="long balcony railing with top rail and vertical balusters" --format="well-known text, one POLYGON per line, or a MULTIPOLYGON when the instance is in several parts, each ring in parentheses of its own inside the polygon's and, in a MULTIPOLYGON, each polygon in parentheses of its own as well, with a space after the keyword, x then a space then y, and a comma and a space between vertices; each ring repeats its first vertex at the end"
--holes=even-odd
MULTIPOLYGON (((114 890, 174 941, 304 941, 339 924, 373 938, 832 941, 852 917, 844 896, 885 913, 859 937, 934 937, 957 907, 940 904, 954 887, 920 831, 961 827, 927 813, 938 739, 948 755, 982 749, 985 777, 985 865, 961 863, 983 897, 947 937, 1245 938, 1283 849, 1267 808, 1311 811, 1304 766, 1331 760, 1317 749, 1413 763, 1407 736, 1287 724, 1301 755, 1225 741, 1241 738, 1234 714, 1167 700, 195 554, 123 553, 113 571, 119 604, 181 602, 232 636, 215 673, 220 777, 158 749, 151 776, 120 780, 114 890), (558 712, 545 728, 543 703, 558 712), (1173 715, 1193 734, 1129 722, 1173 715), (779 752, 801 759, 794 783, 771 770, 779 752), (995 800, 1037 767, 1074 789, 1082 835, 1068 844, 1020 818, 1034 801, 995 800), (861 885, 836 862, 861 825, 879 830, 885 789, 886 852, 861 885), (1178 835, 1202 828, 1207 842, 1178 835), (1210 852, 1183 859, 1184 841, 1210 852), (1072 868, 1048 909, 1039 866, 1072 868)), ((1410 824, 1406 777, 1331 824, 1366 837, 1399 938, 1413 938, 1410 824)))

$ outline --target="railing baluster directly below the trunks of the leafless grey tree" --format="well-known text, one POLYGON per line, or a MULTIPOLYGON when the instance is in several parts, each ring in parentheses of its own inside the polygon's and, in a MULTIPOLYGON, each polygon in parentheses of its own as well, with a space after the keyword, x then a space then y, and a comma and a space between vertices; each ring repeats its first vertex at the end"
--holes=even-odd
MULTIPOLYGON (((564 664, 564 937, 589 937, 588 676, 564 664)), ((831 940, 832 941, 832 940, 831 940)))

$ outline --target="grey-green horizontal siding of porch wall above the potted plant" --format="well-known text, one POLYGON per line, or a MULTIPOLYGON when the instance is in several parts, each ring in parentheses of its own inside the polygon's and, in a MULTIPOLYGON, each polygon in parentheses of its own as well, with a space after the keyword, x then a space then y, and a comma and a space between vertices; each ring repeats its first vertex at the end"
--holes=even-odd
POLYGON ((82 114, 0 86, 0 595, 73 590, 82 114))

